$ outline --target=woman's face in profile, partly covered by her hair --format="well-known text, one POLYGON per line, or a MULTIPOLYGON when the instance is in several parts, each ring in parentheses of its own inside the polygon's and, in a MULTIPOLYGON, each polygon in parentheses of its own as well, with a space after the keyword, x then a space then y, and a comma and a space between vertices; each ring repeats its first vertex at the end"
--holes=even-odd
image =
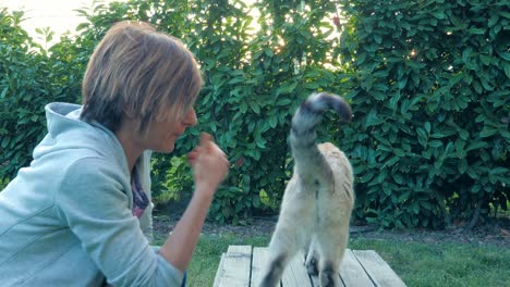
POLYGON ((159 152, 171 152, 178 138, 184 134, 187 127, 194 126, 196 123, 197 118, 193 108, 175 120, 153 120, 145 137, 146 148, 159 152))

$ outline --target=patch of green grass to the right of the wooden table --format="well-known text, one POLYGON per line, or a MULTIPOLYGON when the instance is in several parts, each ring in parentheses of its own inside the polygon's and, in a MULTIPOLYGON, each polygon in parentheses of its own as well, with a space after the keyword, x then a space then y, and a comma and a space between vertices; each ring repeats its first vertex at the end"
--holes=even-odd
POLYGON ((352 249, 373 249, 408 286, 510 286, 510 249, 499 246, 355 239, 352 249))

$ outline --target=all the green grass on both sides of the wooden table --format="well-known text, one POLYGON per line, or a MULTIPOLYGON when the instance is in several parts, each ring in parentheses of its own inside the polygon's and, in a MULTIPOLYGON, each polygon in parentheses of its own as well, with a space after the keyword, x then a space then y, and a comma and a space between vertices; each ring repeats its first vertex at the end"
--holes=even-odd
MULTIPOLYGON (((203 235, 189 269, 189 286, 212 286, 221 253, 229 245, 267 246, 268 241, 268 236, 203 235)), ((510 248, 366 238, 352 239, 349 248, 375 250, 410 287, 510 286, 510 248)))

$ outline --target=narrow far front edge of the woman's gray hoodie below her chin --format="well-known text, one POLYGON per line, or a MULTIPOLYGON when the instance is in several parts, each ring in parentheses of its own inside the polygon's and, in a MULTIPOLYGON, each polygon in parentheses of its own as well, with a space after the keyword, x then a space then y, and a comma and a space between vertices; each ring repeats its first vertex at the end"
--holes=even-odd
POLYGON ((149 242, 151 242, 154 239, 154 236, 153 236, 154 204, 153 204, 153 192, 150 189, 151 188, 150 187, 150 184, 151 184, 150 183, 150 157, 151 157, 151 152, 148 150, 145 151, 144 153, 142 153, 142 157, 139 158, 136 164, 136 171, 138 171, 138 178, 150 202, 148 207, 145 209, 144 214, 142 214, 142 216, 139 217, 139 226, 145 237, 147 237, 147 239, 149 240, 149 242))

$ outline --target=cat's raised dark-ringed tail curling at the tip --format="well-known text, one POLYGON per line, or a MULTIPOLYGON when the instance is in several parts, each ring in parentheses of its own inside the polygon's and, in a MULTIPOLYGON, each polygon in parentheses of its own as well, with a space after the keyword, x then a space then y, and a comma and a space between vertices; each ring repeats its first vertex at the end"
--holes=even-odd
POLYGON ((301 162, 308 165, 314 160, 323 158, 315 144, 317 138, 315 127, 328 110, 333 110, 345 122, 352 117, 349 103, 341 97, 328 92, 312 93, 295 112, 290 133, 290 146, 295 164, 301 162))

